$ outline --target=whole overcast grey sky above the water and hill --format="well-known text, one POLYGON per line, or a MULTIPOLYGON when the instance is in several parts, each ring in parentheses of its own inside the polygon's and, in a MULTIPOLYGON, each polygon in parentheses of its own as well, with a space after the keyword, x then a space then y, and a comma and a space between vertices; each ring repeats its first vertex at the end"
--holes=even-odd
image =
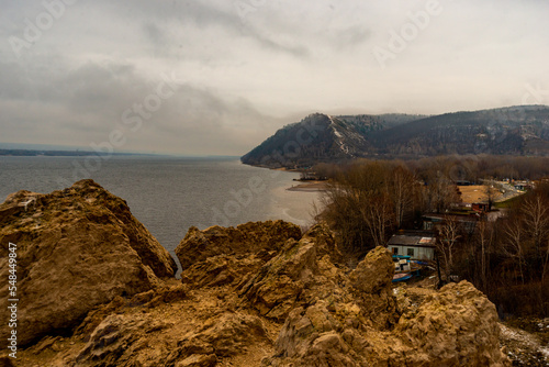
POLYGON ((2 143, 242 155, 316 111, 549 104, 547 0, 0 0, 0 9, 2 143))

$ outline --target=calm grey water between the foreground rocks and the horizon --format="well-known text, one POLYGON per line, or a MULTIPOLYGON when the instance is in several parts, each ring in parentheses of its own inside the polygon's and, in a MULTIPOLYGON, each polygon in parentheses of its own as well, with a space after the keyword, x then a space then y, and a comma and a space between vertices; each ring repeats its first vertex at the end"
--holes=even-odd
POLYGON ((0 157, 0 201, 18 190, 48 193, 92 178, 125 199, 170 251, 191 225, 283 219, 311 223, 317 193, 288 191, 298 174, 249 167, 236 158, 0 157), (99 158, 98 158, 99 159, 99 158))

